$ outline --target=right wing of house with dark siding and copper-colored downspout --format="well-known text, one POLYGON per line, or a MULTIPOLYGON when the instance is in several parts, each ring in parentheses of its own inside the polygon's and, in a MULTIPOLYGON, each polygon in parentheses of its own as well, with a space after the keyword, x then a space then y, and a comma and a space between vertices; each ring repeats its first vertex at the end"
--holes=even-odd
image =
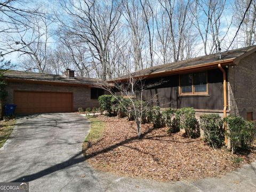
MULTIPOLYGON (((193 107, 196 115, 218 113, 256 119, 256 46, 167 63, 133 73, 147 84, 143 99, 162 109, 193 107)), ((129 76, 108 81, 120 83, 129 76)), ((118 93, 117 93, 118 94, 118 93)))

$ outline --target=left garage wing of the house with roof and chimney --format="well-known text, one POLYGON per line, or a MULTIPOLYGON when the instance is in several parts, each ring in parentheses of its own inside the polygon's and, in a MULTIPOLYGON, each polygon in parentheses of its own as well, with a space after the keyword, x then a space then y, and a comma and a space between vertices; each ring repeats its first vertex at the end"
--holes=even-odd
POLYGON ((67 69, 63 76, 9 70, 4 73, 8 93, 4 103, 17 105, 17 114, 77 111, 79 107, 98 107, 100 89, 106 82, 75 77, 67 69))

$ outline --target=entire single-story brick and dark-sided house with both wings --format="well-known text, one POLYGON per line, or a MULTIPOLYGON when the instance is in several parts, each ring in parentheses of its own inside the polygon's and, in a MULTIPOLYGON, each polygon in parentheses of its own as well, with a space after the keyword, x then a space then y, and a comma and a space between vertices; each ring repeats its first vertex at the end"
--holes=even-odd
MULTIPOLYGON (((144 98, 157 97, 161 108, 193 107, 202 113, 240 115, 256 119, 256 46, 167 63, 132 74, 148 83, 161 85, 145 91, 144 98)), ((125 81, 128 76, 108 82, 94 78, 7 71, 9 96, 18 114, 69 112, 78 107, 98 106, 102 85, 125 81)))

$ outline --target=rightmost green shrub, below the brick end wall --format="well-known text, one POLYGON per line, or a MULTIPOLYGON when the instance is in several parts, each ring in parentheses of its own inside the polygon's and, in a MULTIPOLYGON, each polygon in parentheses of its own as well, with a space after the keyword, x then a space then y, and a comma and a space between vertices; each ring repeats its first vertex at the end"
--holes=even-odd
POLYGON ((230 138, 233 153, 237 148, 249 149, 255 134, 253 123, 245 121, 243 117, 231 115, 225 118, 225 122, 228 126, 226 135, 230 138))

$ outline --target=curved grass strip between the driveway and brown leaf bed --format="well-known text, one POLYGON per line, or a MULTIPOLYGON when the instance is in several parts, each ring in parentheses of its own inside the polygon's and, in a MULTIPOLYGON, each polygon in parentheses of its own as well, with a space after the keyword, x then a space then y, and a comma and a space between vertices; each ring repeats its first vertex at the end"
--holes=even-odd
POLYGON ((84 142, 99 140, 102 137, 105 123, 101 122, 96 116, 88 116, 87 119, 91 122, 91 130, 84 142))

